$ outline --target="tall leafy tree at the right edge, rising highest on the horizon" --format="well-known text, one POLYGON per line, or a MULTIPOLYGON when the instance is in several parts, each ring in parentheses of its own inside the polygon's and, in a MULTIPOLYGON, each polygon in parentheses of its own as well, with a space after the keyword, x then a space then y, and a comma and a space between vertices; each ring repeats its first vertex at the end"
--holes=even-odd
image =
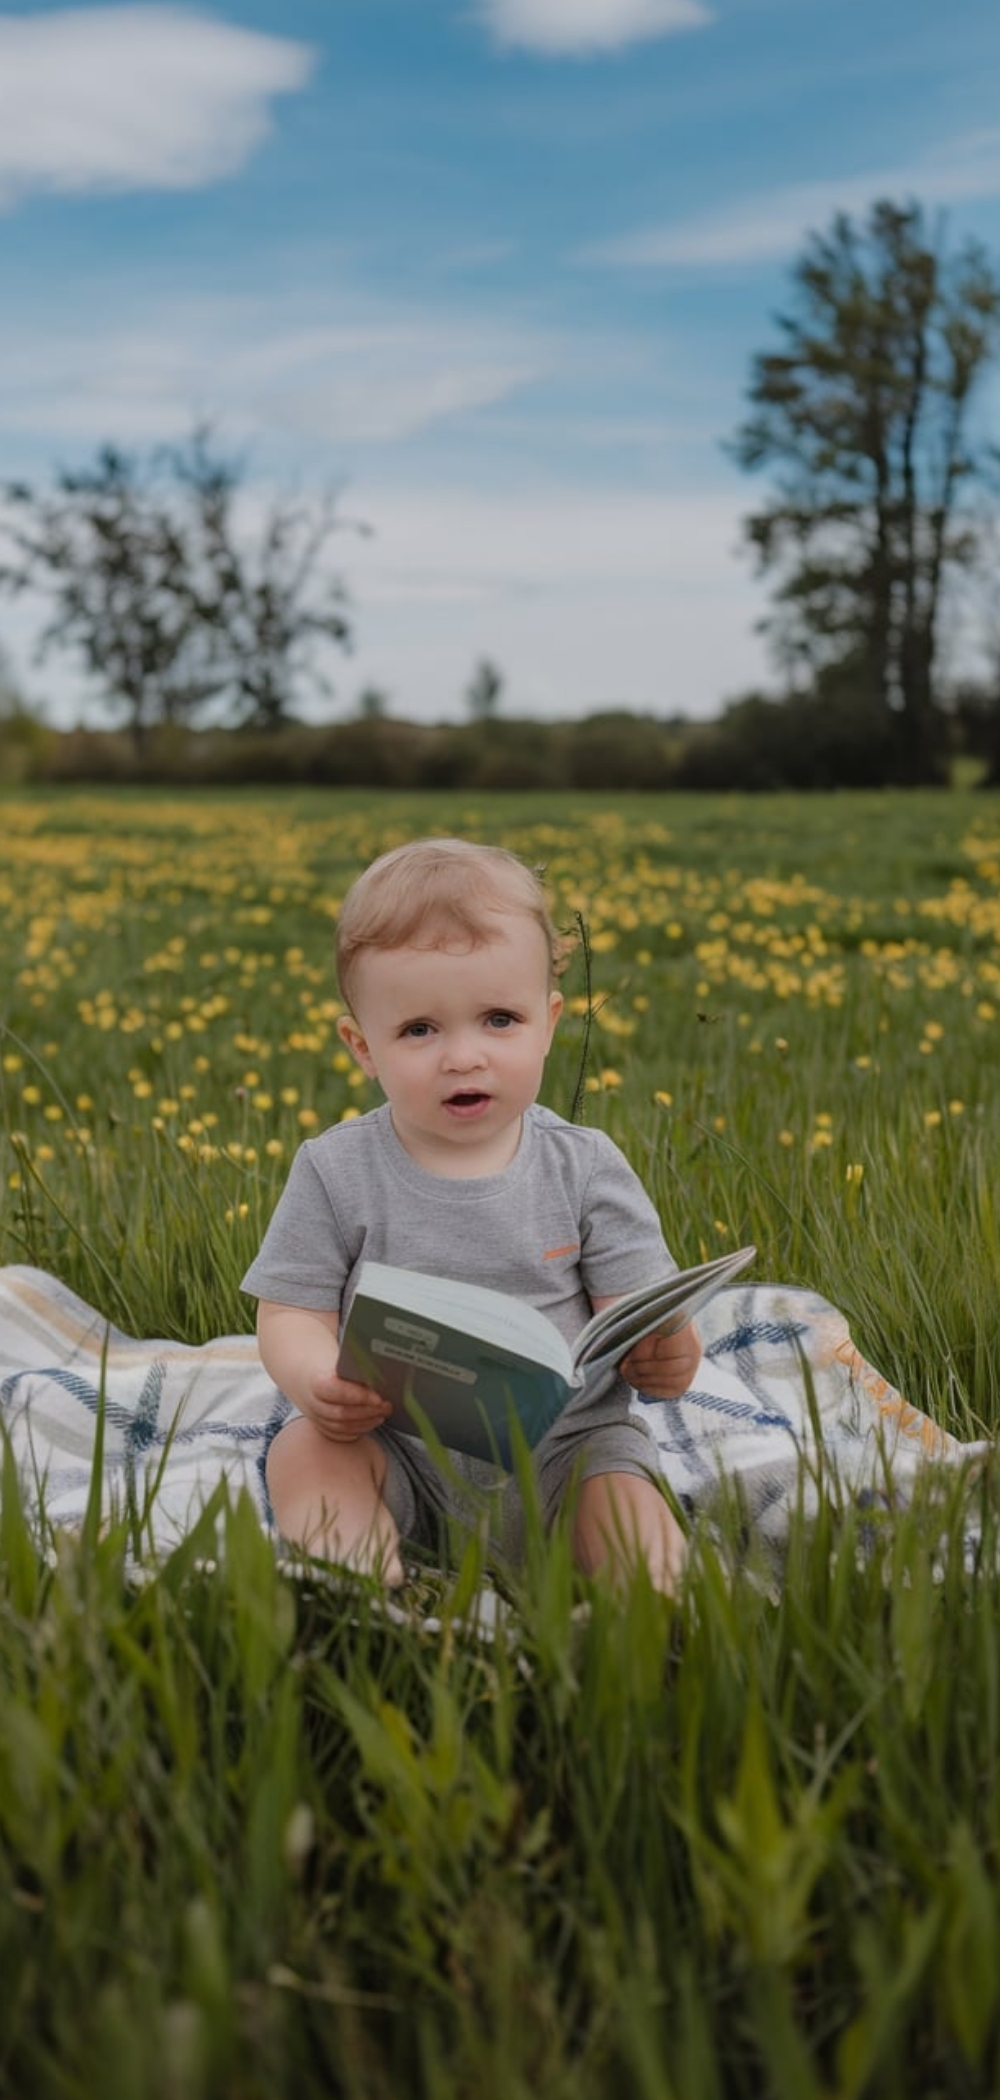
POLYGON ((765 628, 792 682, 805 674, 830 706, 849 676, 897 779, 933 781, 941 609, 975 546, 973 407, 1000 342, 1000 281, 975 242, 947 258, 920 206, 880 202, 866 227, 840 214, 813 235, 792 286, 733 443, 742 466, 777 470, 746 521, 775 575, 765 628))

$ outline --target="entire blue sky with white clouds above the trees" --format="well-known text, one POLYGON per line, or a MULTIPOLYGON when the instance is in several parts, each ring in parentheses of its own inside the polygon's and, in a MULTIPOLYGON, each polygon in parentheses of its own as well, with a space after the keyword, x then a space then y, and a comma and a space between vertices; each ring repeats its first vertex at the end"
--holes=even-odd
POLYGON ((212 418, 248 512, 370 527, 334 712, 489 655, 506 712, 712 714, 769 678, 725 441, 790 265, 878 195, 1000 252, 998 82, 996 0, 0 10, 0 475, 212 418))

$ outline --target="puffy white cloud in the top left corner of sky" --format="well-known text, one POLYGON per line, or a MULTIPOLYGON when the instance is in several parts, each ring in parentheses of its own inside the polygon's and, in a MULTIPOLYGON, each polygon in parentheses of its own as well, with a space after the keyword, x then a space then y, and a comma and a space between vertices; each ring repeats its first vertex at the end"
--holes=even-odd
POLYGON ((305 44, 176 6, 0 15, 0 206, 233 174, 311 67, 305 44))

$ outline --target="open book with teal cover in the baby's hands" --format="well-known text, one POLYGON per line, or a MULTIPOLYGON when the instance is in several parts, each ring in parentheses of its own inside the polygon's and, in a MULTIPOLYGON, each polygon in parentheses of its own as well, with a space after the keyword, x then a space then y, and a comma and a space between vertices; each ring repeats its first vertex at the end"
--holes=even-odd
POLYGON ((683 1327, 754 1254, 737 1247, 616 1298, 574 1346, 538 1306, 506 1292, 361 1262, 338 1371, 393 1403, 389 1428, 414 1434, 416 1403, 450 1451, 511 1466, 513 1415, 536 1445, 595 1371, 620 1363, 643 1336, 683 1327))

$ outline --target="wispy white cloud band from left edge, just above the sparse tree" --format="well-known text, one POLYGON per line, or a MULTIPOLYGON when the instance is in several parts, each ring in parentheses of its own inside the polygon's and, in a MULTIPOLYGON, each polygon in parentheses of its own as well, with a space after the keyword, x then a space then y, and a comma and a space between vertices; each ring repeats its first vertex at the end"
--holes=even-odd
POLYGON ((225 407, 231 437, 296 445, 389 445, 489 410, 544 378, 559 351, 542 332, 359 304, 357 317, 290 321, 271 294, 166 298, 122 311, 88 298, 61 326, 17 315, 0 340, 0 433, 8 445, 149 445, 225 407), (218 393, 225 374, 225 403, 218 393))

